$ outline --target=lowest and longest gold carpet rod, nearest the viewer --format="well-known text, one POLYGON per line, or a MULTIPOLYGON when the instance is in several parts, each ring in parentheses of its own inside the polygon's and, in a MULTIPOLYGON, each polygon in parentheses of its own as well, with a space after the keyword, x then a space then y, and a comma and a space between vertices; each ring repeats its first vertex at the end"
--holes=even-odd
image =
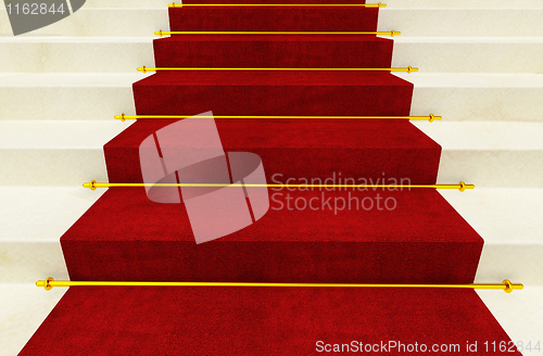
POLYGON ((36 287, 47 291, 53 287, 272 287, 272 288, 447 288, 503 290, 510 293, 522 290, 522 283, 512 283, 505 279, 502 283, 469 284, 374 284, 374 283, 252 283, 252 282, 136 282, 136 281, 55 281, 52 277, 36 282, 36 287))

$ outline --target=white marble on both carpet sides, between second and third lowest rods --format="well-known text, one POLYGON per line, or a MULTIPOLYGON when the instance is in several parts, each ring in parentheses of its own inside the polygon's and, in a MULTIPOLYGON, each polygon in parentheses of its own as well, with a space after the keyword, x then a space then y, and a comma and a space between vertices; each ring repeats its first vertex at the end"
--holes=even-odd
MULTIPOLYGON (((438 181, 543 188, 543 123, 415 124, 443 148, 438 181)), ((92 179, 106 181, 102 147, 128 125, 0 122, 0 185, 79 187, 92 179)))

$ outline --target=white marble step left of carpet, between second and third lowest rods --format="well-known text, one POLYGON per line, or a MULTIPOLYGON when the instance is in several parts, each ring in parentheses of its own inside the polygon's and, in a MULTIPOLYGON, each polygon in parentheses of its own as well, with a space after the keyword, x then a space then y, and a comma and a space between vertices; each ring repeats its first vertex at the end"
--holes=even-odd
POLYGON ((130 123, 0 122, 0 185, 80 187, 106 180, 102 147, 130 123))

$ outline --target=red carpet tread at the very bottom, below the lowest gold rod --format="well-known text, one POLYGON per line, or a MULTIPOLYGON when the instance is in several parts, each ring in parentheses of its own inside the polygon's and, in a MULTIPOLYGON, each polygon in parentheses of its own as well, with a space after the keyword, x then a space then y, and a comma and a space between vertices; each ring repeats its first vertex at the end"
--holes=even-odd
POLYGON ((473 355, 485 354, 485 341, 509 342, 470 290, 89 287, 71 288, 21 355, 126 354, 135 345, 143 354, 307 355, 318 341, 381 344, 383 334, 463 353, 477 341, 473 355))

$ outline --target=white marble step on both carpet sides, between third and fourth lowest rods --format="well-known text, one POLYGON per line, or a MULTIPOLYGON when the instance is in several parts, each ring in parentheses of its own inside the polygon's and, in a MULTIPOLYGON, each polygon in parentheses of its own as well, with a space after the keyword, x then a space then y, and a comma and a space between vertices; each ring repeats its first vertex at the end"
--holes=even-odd
MULTIPOLYGON (((399 75, 415 85, 412 115, 446 122, 542 122, 543 75, 399 75)), ((141 73, 0 74, 0 122, 109 120, 134 115, 132 82, 141 73)))

